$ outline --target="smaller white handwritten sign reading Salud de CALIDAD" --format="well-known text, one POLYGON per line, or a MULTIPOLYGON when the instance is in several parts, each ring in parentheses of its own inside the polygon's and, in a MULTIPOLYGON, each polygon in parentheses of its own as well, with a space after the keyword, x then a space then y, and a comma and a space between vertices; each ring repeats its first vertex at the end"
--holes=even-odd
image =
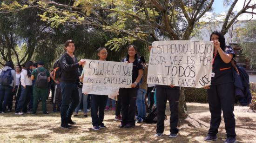
POLYGON ((131 63, 87 59, 83 70, 83 93, 113 96, 132 84, 131 63))

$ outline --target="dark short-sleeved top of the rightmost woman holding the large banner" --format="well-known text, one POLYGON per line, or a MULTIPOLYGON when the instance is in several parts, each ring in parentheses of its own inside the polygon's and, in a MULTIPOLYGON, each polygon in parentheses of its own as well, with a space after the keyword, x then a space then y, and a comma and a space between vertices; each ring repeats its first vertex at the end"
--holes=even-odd
MULTIPOLYGON (((233 54, 233 58, 236 56, 236 53, 231 46, 226 46, 225 53, 233 54)), ((228 64, 224 63, 219 53, 217 53, 216 57, 214 58, 212 72, 215 73, 215 76, 211 78, 212 85, 234 82, 231 62, 228 64)))

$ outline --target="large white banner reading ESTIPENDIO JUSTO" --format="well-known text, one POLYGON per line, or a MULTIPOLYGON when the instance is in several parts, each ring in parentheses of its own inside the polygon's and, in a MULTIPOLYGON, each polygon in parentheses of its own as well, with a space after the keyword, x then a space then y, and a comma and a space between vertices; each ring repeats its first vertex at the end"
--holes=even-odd
POLYGON ((213 51, 211 41, 155 41, 147 83, 197 88, 210 85, 213 51))

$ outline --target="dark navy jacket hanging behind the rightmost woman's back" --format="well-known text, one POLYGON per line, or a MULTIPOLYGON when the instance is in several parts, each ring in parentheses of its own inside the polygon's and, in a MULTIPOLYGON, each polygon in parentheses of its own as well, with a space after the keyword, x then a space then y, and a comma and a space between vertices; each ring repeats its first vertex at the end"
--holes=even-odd
POLYGON ((249 84, 249 75, 243 67, 236 66, 240 75, 237 75, 236 71, 233 70, 233 76, 235 79, 235 96, 239 103, 243 106, 247 106, 251 103, 251 92, 249 84))

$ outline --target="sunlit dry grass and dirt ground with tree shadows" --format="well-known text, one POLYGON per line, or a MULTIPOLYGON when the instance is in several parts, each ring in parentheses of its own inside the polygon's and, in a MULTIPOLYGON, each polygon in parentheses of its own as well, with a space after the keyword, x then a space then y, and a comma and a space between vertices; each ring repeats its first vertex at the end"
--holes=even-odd
MULTIPOLYGON (((106 129, 92 130, 90 112, 88 117, 83 117, 79 112, 78 117, 72 119, 77 123, 72 129, 60 128, 60 113, 51 112, 51 104, 48 105, 50 114, 43 115, 39 111, 37 115, 25 114, 22 116, 14 113, 0 114, 0 143, 204 143, 210 122, 208 104, 187 103, 190 118, 180 120, 179 135, 177 138, 169 138, 169 115, 165 121, 164 136, 155 137, 156 124, 137 123, 135 128, 120 129, 120 122, 114 120, 115 112, 106 111, 104 124, 106 129)), ((249 107, 235 106, 236 134, 238 143, 256 143, 256 113, 249 107)), ((223 143, 225 140, 225 128, 222 123, 214 143, 223 143)))

